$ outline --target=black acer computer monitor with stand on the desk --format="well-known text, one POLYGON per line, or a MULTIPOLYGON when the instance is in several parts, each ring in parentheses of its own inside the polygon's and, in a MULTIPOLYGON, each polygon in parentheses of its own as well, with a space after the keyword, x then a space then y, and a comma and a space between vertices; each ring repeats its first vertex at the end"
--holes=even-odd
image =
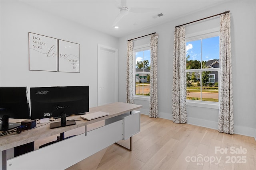
POLYGON ((89 111, 89 86, 55 86, 30 88, 31 119, 61 117, 50 128, 76 124, 66 116, 89 111))

